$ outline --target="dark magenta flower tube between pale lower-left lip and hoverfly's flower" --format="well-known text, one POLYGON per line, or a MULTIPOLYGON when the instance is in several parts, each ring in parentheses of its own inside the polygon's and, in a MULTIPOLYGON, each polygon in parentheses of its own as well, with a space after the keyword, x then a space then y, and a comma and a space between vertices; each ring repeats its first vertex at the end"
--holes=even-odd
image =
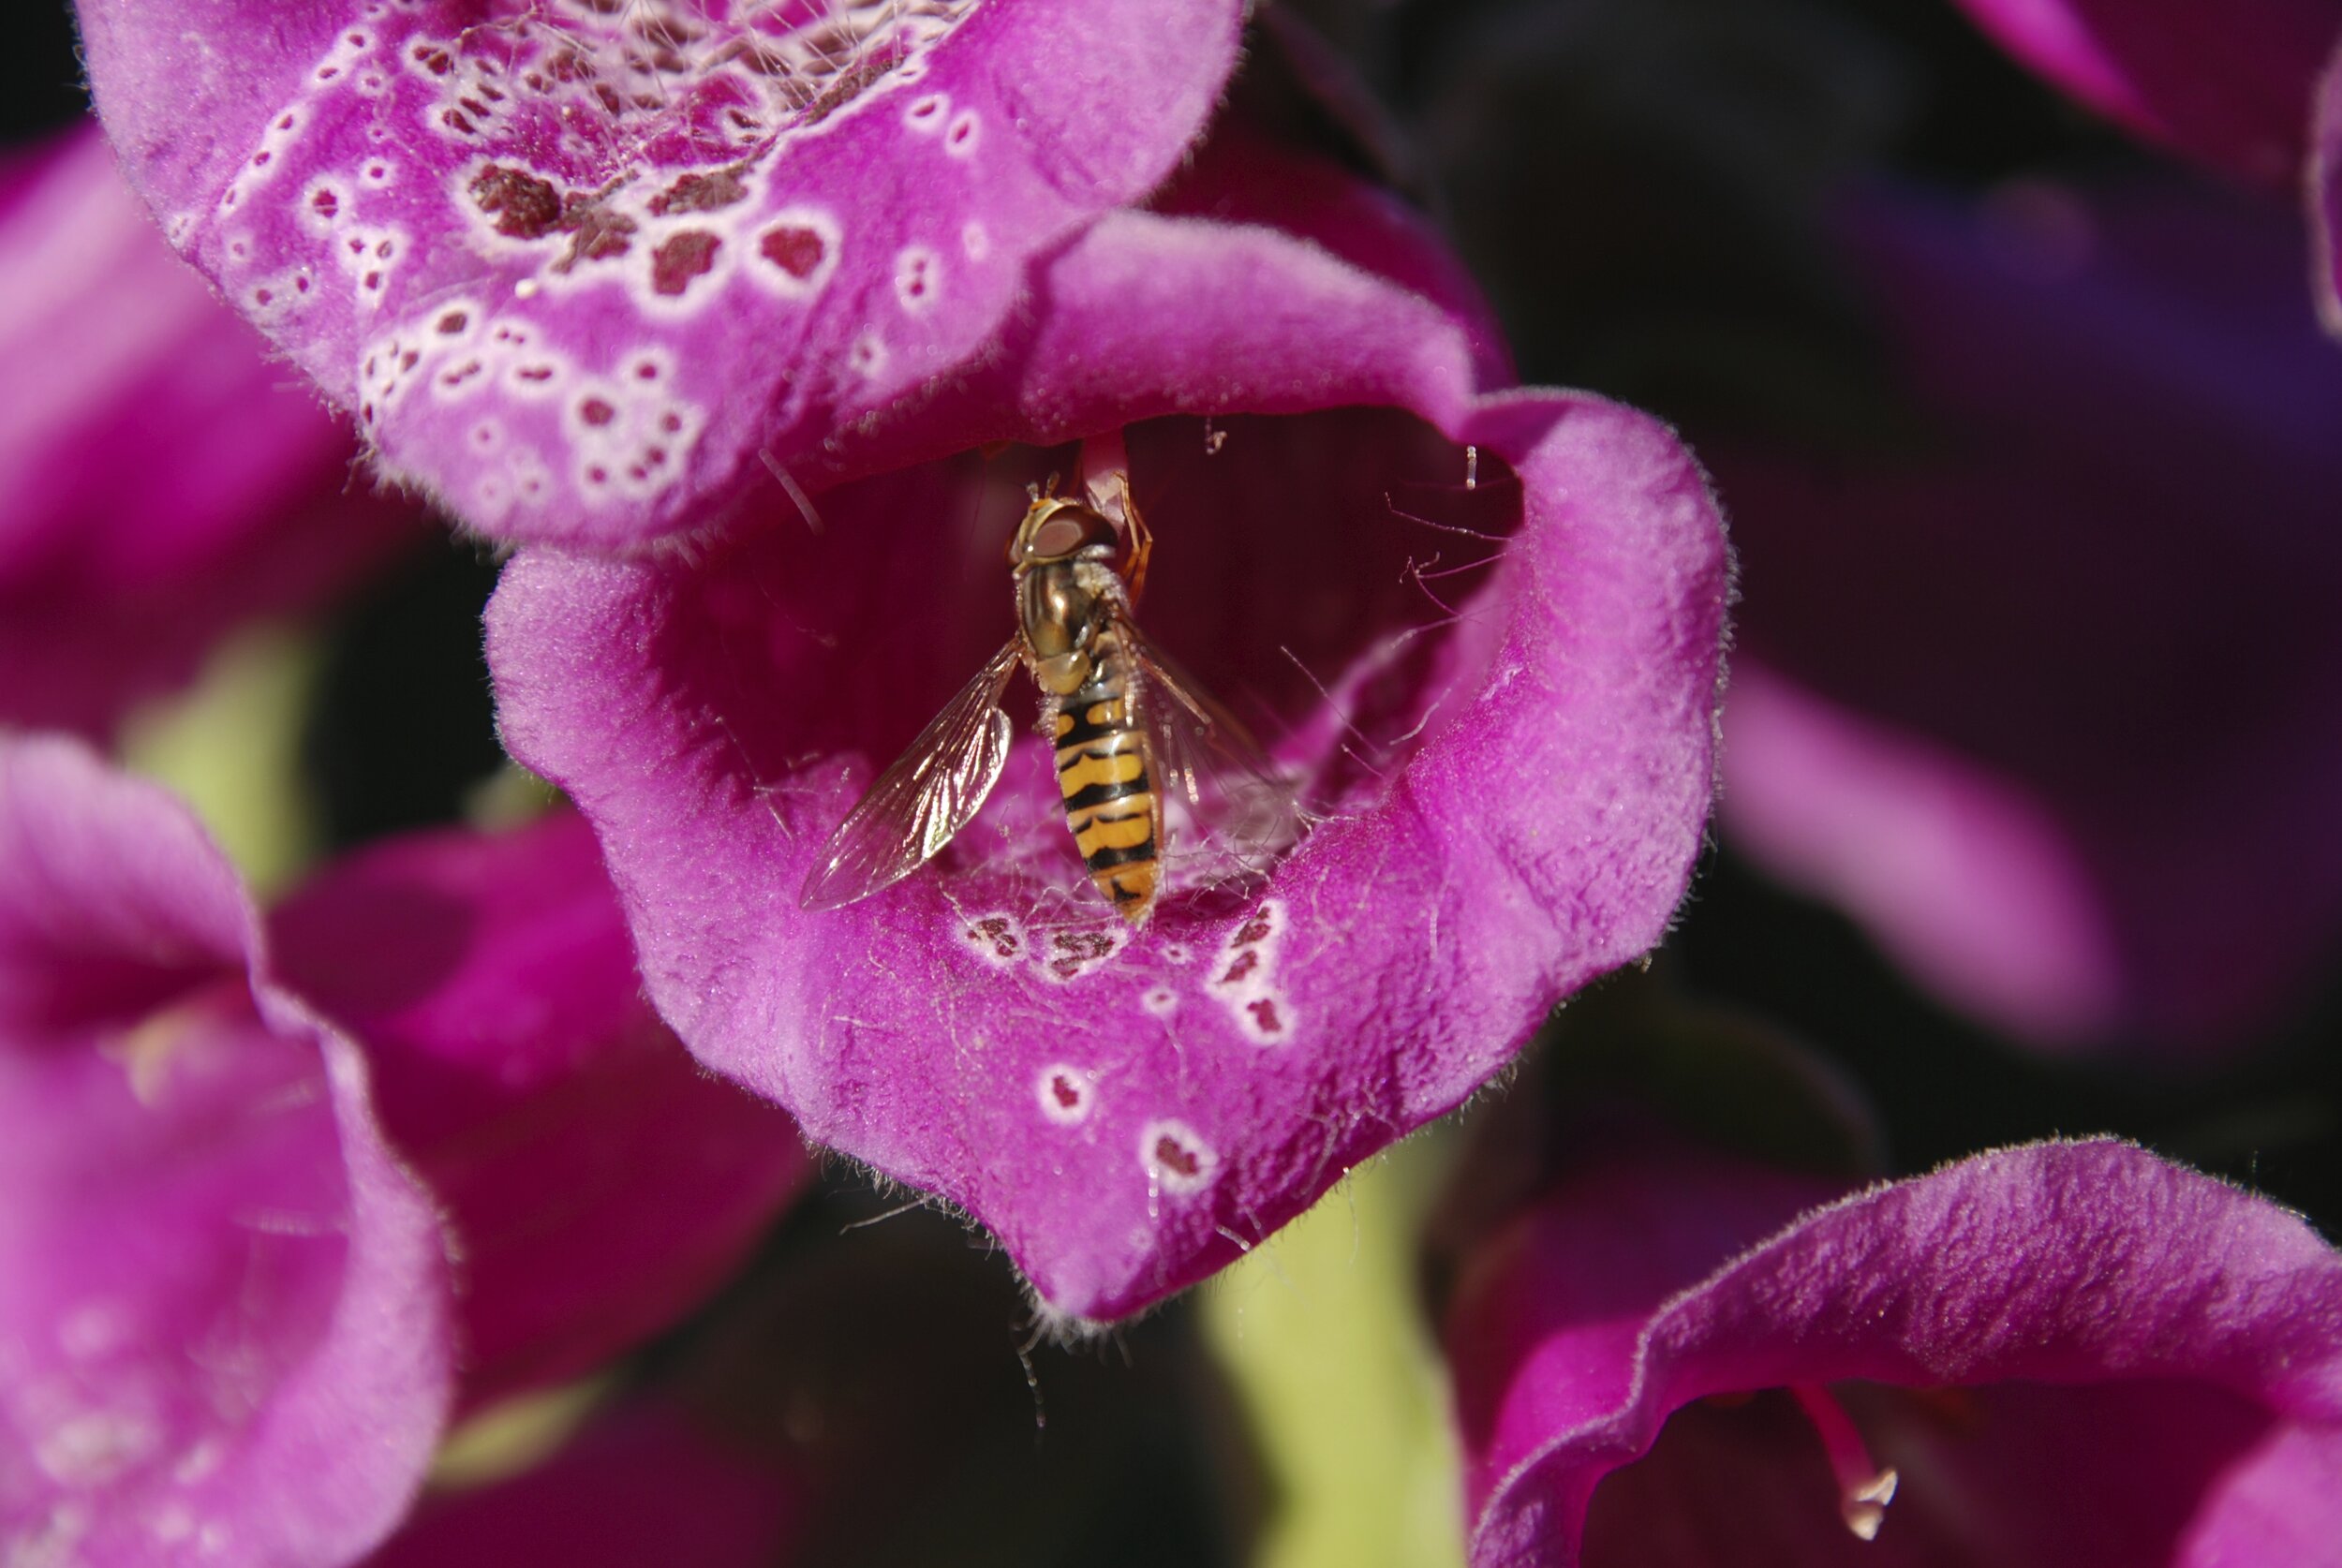
POLYGON ((269 917, 283 974, 365 1041, 454 1243, 464 1402, 586 1371, 714 1290, 810 1175, 785 1114, 642 999, 593 833, 426 833, 269 917))

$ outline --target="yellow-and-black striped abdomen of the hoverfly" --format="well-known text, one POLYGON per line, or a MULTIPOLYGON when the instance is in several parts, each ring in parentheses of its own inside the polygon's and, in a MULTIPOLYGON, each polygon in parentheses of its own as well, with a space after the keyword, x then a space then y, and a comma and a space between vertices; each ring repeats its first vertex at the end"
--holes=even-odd
POLYGON ((1155 784, 1112 630, 1089 651, 1089 681, 1056 700, 1056 786, 1089 880, 1138 924, 1155 908, 1155 784))

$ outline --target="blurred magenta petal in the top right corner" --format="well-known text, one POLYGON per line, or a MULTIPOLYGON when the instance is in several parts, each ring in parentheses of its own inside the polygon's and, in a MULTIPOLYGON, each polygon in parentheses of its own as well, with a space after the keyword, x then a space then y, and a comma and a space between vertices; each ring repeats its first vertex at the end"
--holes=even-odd
POLYGON ((2143 136, 2290 187, 2337 0, 1960 0, 2019 61, 2143 136))

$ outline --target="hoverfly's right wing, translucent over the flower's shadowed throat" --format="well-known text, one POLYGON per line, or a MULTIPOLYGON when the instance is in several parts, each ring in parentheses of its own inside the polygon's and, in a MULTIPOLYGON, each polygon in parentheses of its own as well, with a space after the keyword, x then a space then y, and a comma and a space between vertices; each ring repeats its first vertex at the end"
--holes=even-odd
POLYGON ((1293 779, 1253 733, 1178 667, 1129 615, 1115 630, 1131 651, 1138 721, 1148 733, 1155 784, 1190 821, 1246 868, 1286 850, 1307 826, 1293 779))

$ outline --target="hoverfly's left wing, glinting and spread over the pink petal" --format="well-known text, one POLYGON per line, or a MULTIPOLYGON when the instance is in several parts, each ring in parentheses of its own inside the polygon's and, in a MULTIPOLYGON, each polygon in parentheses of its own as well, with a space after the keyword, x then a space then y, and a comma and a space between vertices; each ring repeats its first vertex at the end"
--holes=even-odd
POLYGON ((796 896, 803 908, 869 899, 925 866, 967 826, 1009 761, 1014 725, 1000 711, 1000 693, 1014 669, 1012 641, 878 775, 822 845, 796 896))

